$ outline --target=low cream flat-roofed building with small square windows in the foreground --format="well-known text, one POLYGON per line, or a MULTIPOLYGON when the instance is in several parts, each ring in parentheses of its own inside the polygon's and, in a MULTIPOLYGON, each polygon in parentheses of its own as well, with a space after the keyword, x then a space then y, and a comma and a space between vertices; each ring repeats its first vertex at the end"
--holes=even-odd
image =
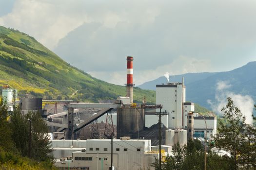
MULTIPOLYGON (((59 142, 59 141, 58 141, 59 142)), ((70 156, 58 158, 55 165, 82 170, 108 170, 111 165, 111 140, 86 140, 86 147, 70 156)), ((113 139, 113 167, 115 170, 154 170, 158 153, 151 151, 150 140, 134 140, 129 137, 113 139)))

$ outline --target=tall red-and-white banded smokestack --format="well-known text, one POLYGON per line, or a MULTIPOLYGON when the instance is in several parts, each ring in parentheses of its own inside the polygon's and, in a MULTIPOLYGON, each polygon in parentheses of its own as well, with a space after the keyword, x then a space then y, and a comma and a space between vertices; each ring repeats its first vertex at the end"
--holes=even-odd
POLYGON ((131 99, 133 103, 133 57, 127 57, 127 83, 126 83, 126 96, 131 99))

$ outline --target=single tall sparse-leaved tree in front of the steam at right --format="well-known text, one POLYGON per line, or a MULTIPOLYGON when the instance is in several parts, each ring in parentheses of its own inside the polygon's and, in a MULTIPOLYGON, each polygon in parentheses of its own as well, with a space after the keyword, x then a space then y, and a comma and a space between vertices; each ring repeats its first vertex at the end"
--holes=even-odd
POLYGON ((245 135, 241 133, 244 129, 245 117, 231 98, 227 98, 227 105, 221 111, 228 124, 219 122, 218 133, 214 137, 215 144, 217 148, 231 153, 230 164, 234 166, 234 170, 237 170, 239 165, 243 164, 239 154, 244 152, 245 147, 242 145, 246 142, 245 135))

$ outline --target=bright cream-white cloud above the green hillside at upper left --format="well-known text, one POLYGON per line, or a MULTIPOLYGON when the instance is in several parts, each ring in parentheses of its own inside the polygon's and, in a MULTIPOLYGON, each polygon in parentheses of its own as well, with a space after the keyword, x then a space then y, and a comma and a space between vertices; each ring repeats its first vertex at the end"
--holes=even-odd
POLYGON ((71 14, 65 1, 16 0, 12 12, 0 17, 0 25, 34 36, 53 49, 59 39, 87 20, 85 14, 71 14))

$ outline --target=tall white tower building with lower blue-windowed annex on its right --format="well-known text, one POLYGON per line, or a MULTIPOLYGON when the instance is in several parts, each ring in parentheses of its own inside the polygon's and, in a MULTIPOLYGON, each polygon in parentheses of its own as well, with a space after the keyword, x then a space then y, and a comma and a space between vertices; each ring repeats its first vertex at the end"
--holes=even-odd
MULTIPOLYGON (((207 138, 211 138, 211 135, 215 135, 217 133, 216 117, 198 116, 198 113, 194 113, 195 104, 193 102, 185 102, 186 86, 184 85, 184 79, 182 80, 182 83, 157 85, 156 94, 156 102, 161 103, 162 111, 166 111, 168 113, 167 116, 162 116, 162 123, 167 127, 167 129, 185 129, 188 133, 187 139, 193 139, 193 137, 204 137, 204 119, 206 119, 207 138), (189 115, 190 112, 194 113, 194 115, 189 115)), ((153 117, 156 118, 156 116, 153 117)), ((172 142, 170 142, 170 135, 172 136, 174 132, 166 132, 169 134, 166 134, 165 141, 168 142, 166 145, 173 143, 176 144, 177 142, 174 141, 174 137, 171 137, 172 142)))

